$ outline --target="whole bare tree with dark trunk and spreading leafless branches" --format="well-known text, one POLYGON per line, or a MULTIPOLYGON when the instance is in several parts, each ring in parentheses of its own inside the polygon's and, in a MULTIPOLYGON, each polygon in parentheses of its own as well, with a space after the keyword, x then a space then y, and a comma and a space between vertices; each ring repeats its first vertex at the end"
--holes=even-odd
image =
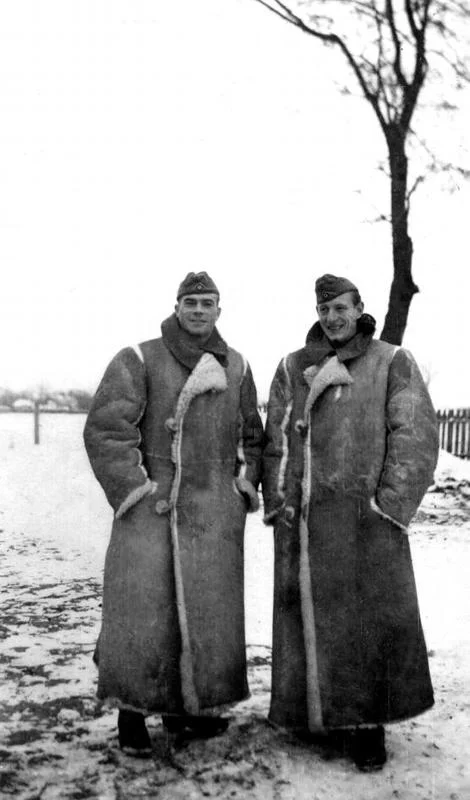
MULTIPOLYGON (((419 291, 412 275, 408 217, 411 196, 423 175, 410 185, 407 145, 416 135, 412 119, 427 80, 445 73, 455 89, 470 80, 461 41, 462 26, 470 21, 468 0, 292 0, 289 6, 279 0, 255 2, 337 48, 379 122, 388 151, 387 218, 393 247, 393 280, 381 338, 401 344, 411 300, 419 291)), ((450 107, 447 99, 441 107, 450 107)), ((435 158, 430 168, 436 170, 435 158)), ((470 174, 455 169, 466 177, 470 174)))

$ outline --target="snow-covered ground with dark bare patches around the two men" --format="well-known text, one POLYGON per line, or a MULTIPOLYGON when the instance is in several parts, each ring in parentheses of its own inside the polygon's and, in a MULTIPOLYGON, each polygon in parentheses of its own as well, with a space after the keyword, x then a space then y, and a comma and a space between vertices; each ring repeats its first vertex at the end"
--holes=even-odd
POLYGON ((91 662, 111 513, 88 467, 84 417, 0 415, 0 797, 467 800, 470 797, 470 464, 443 453, 410 537, 436 693, 432 711, 387 729, 372 776, 272 729, 269 708, 272 534, 246 531, 251 698, 227 734, 169 741, 129 759, 116 714, 95 699, 91 662))

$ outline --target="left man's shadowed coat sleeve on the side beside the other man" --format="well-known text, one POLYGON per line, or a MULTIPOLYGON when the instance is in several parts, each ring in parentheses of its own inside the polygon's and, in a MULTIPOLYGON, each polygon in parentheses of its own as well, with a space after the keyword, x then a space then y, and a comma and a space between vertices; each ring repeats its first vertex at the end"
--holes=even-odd
POLYGON ((235 482, 246 497, 250 511, 257 511, 259 507, 257 488, 261 477, 263 439, 256 386, 247 364, 240 385, 240 454, 235 482))

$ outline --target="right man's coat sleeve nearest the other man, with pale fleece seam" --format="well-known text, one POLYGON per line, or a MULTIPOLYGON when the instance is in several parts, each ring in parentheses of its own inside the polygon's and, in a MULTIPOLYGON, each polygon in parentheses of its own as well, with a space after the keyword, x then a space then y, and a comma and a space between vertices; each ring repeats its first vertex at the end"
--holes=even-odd
POLYGON ((262 479, 266 523, 275 521, 285 501, 291 413, 292 386, 287 359, 283 359, 276 370, 269 392, 262 479))

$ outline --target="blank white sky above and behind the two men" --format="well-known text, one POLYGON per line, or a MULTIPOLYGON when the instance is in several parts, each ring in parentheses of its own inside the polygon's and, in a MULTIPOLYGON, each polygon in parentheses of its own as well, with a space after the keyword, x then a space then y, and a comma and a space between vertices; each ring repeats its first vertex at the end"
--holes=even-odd
MULTIPOLYGON (((391 280, 385 147, 339 55, 252 0, 15 0, 0 7, 0 386, 94 389, 160 335, 207 270, 219 329, 267 396, 344 274, 380 325, 391 280)), ((425 133, 469 163, 470 104, 425 133)), ((470 188, 414 198, 405 346, 438 406, 470 405, 470 188)))

